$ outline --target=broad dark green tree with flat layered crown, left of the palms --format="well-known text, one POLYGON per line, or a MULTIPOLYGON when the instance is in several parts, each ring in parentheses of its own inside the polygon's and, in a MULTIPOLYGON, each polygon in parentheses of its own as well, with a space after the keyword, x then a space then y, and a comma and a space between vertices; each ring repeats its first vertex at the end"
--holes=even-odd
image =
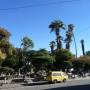
POLYGON ((34 51, 30 54, 31 63, 35 67, 35 71, 40 69, 51 69, 51 65, 54 61, 53 57, 45 49, 34 51))

